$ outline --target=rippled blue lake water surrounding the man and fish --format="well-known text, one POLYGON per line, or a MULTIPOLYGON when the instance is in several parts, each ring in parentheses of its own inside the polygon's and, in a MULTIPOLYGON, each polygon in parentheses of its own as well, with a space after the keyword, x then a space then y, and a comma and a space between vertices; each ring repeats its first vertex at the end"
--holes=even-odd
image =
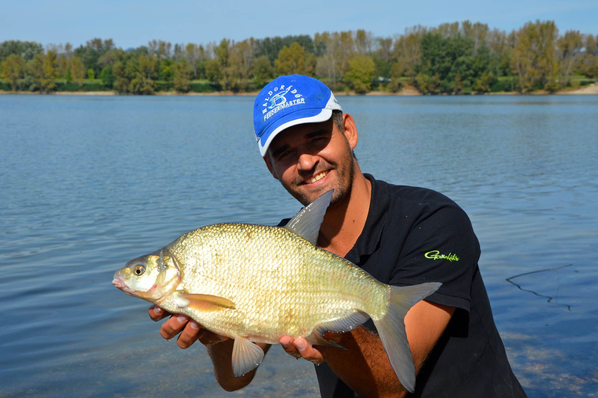
MULTIPOLYGON (((362 170, 468 212, 529 396, 598 397, 598 96, 339 99, 362 170)), ((231 395, 111 281, 189 230, 300 208, 260 159, 252 102, 0 96, 0 396, 231 395)), ((232 395, 318 387, 276 348, 232 395)))

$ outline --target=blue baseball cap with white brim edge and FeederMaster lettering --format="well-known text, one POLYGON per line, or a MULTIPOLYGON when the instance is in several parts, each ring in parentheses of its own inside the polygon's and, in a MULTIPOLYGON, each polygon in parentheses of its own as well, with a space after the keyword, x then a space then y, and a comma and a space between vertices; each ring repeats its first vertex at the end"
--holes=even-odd
POLYGON ((304 75, 279 76, 260 91, 254 102, 255 139, 261 156, 284 129, 330 119, 342 111, 334 94, 318 79, 304 75))

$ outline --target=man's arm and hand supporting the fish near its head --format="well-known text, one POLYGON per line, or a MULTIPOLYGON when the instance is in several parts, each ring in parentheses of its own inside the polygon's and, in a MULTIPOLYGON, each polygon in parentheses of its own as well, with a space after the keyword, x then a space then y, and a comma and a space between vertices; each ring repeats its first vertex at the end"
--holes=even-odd
MULTIPOLYGON (((148 313, 149 317, 154 321, 159 321, 172 315, 155 305, 149 308, 148 313)), ((216 381, 218 381, 218 384, 220 384, 224 390, 239 390, 239 388, 248 385, 254 378, 257 368, 240 377, 235 377, 233 375, 233 365, 231 361, 233 356, 233 339, 209 332, 209 330, 203 329, 196 321, 181 314, 173 315, 160 327, 160 335, 164 339, 172 339, 179 333, 181 334, 178 339, 176 339, 176 344, 181 348, 191 347, 197 340, 206 346, 208 354, 212 359, 216 381)), ((256 344, 264 350, 264 355, 266 355, 270 348, 270 344, 256 344)))

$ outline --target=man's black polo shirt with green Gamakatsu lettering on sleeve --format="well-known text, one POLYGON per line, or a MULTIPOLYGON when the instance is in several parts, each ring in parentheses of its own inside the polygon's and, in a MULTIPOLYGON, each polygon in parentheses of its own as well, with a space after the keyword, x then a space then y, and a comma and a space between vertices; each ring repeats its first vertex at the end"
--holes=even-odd
MULTIPOLYGON (((443 282, 426 300, 456 307, 408 396, 526 396, 496 330, 468 216, 433 190, 365 177, 372 186, 370 209, 345 258, 390 285, 443 282)), ((371 320, 364 326, 376 330, 371 320)), ((327 363, 315 369, 322 397, 356 395, 327 363)))

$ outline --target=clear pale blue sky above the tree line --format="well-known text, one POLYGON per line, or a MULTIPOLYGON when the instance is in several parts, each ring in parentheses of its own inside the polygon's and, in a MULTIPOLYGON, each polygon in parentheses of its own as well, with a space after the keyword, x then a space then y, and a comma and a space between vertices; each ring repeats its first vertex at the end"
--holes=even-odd
POLYGON ((374 36, 402 34, 414 25, 437 26, 470 20, 504 31, 524 23, 554 20, 560 33, 570 29, 598 34, 596 0, 502 1, 5 1, 0 7, 0 42, 31 40, 44 45, 94 37, 112 38, 118 47, 148 41, 207 44, 222 38, 243 40, 313 35, 356 29, 374 36))

